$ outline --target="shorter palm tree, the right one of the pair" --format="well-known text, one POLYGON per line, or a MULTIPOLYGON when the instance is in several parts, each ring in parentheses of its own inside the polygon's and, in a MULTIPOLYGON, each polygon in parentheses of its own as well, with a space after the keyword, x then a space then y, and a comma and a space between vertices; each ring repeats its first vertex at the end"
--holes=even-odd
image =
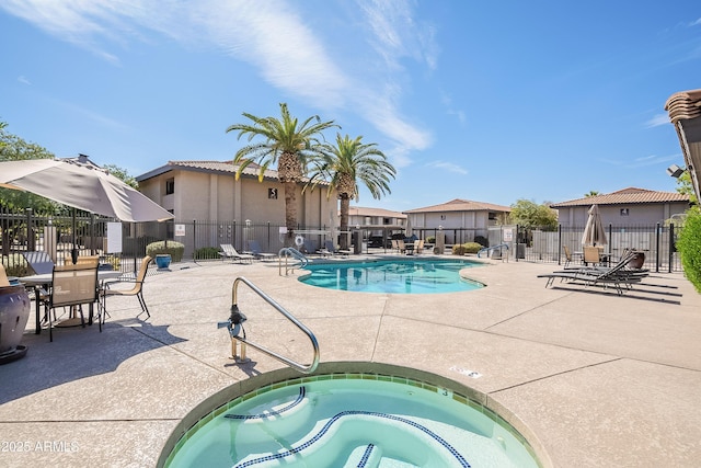
MULTIPOLYGON (((363 137, 350 139, 348 135, 336 135, 336 145, 321 146, 323 158, 317 160, 315 171, 308 186, 327 181, 327 196, 336 191, 341 199, 341 231, 348 230, 348 209, 350 199, 358 199, 358 182, 363 182, 375 199, 391 193, 390 178, 397 170, 387 161, 387 157, 376 148, 376 144, 363 144, 363 137)), ((341 249, 348 248, 347 236, 341 236, 341 249)))

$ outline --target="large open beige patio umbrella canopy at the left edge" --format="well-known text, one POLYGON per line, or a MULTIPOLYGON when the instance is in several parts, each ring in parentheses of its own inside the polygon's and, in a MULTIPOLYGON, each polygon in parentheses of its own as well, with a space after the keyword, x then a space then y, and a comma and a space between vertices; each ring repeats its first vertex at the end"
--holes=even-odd
POLYGON ((81 156, 0 162, 0 186, 126 222, 163 221, 173 215, 81 156))

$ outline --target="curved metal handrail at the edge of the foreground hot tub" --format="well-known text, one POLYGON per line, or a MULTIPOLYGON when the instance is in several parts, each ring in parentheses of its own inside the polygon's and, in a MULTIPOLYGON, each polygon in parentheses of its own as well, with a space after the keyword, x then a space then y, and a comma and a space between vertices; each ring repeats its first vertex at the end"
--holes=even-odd
POLYGON ((319 365, 319 342, 317 341, 317 336, 309 330, 302 322, 297 320, 295 316, 289 313, 287 310, 283 308, 279 304, 273 300, 267 294, 261 290, 257 286, 251 283, 249 279, 239 276, 233 281, 233 286, 231 287, 231 317, 227 322, 220 322, 218 324, 219 328, 227 327, 229 329, 229 334, 231 335, 231 351, 232 356, 235 358, 237 355, 237 341, 241 342, 241 358, 245 359, 245 345, 253 346, 254 349, 261 351, 262 353, 267 354, 268 356, 280 361, 281 363, 287 364, 288 366, 299 370, 302 374, 311 374, 317 369, 319 365), (288 357, 285 357, 274 351, 271 351, 260 344, 256 344, 252 341, 245 339, 245 332, 243 336, 239 336, 239 332, 243 329, 242 324, 246 320, 245 316, 239 311, 239 306, 237 303, 238 287, 239 283, 244 283, 249 286, 254 293, 263 298, 267 304, 273 306, 278 312, 285 316, 290 322, 292 322, 298 329, 300 329, 311 341, 311 344, 314 349, 314 357, 312 363, 308 366, 297 363, 288 357))

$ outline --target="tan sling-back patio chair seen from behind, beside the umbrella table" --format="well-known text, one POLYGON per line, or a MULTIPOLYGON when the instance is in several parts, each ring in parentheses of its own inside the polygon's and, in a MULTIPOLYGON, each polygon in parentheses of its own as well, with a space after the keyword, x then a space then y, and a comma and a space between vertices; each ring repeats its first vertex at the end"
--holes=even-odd
MULTIPOLYGON (((45 317, 48 319, 49 341, 54 341, 51 310, 70 307, 71 312, 80 312, 80 324, 85 327, 82 305, 90 306, 92 322, 93 305, 99 300, 97 265, 76 264, 55 266, 51 272, 51 288, 44 300, 45 317)), ((56 312, 54 312, 56 316, 56 312)))

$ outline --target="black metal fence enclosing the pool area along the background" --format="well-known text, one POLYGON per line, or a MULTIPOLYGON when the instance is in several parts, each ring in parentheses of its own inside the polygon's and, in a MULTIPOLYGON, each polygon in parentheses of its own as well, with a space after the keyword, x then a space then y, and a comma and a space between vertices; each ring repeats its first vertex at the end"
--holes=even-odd
MULTIPOLYGON (((248 251, 251 240, 257 241, 263 252, 278 252, 286 242, 285 228, 276 224, 253 224, 251 221, 165 221, 123 222, 120 239, 114 246, 108 239, 108 224, 112 219, 95 215, 76 213, 73 216, 38 216, 32 210, 24 213, 0 212, 0 253, 5 265, 22 264, 23 251, 49 251, 58 263, 70 258, 72 250, 80 255, 103 255, 123 272, 138 270, 138 259, 146 255, 146 248, 156 241, 183 244, 183 260, 199 261, 219 259, 222 243, 230 243, 239 251, 248 251)), ((675 225, 606 227, 608 241, 605 252, 613 258, 625 249, 645 253, 645 267, 653 271, 681 271, 679 254, 675 248, 677 231, 675 225)), ((677 228, 678 230, 678 228, 677 228)), ((564 249, 582 250, 582 227, 558 227, 556 230, 526 229, 519 226, 493 226, 487 229, 426 229, 415 228, 413 233, 429 240, 443 231, 448 248, 452 244, 480 241, 489 246, 508 246, 508 258, 515 261, 564 263, 564 249)), ((114 231, 113 231, 114 232, 114 231)), ((350 242, 360 243, 356 252, 374 253, 387 251, 393 236, 403 230, 352 229, 338 232, 330 226, 298 226, 295 240, 302 251, 313 252, 326 240, 338 244, 342 235, 348 235, 350 242), (354 236, 355 233, 355 236, 354 236), (380 248, 378 251, 377 248, 380 248), (376 249, 376 250, 374 250, 376 249)), ((22 273, 22 272, 20 272, 22 273)), ((30 272, 31 273, 31 272, 30 272)))

